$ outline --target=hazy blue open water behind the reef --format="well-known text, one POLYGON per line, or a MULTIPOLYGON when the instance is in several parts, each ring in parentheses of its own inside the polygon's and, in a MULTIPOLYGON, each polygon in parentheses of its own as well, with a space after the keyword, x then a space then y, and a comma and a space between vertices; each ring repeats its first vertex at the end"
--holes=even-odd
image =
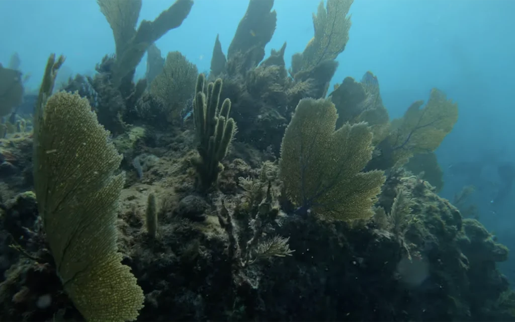
MULTIPOLYGON (((173 0, 144 0, 140 19, 152 20, 173 0)), ((163 55, 179 50, 200 71, 208 71, 216 33, 227 50, 248 2, 195 0, 190 16, 157 42, 163 55)), ((313 37, 312 12, 317 0, 276 0, 276 33, 267 51, 288 42, 286 61, 313 37)), ((390 115, 402 115, 411 102, 427 99, 433 87, 459 103, 459 121, 438 156, 443 168, 495 151, 502 160, 515 159, 515 1, 492 0, 356 0, 351 8, 350 41, 339 56, 334 82, 361 78, 371 70, 380 80, 390 115)), ((31 73, 36 88, 51 52, 64 54, 74 72, 93 70, 114 52, 111 29, 94 0, 0 0, 0 62, 13 52, 22 71, 31 73)), ((139 67, 143 75, 145 64, 139 67)), ((488 169, 492 180, 495 171, 488 169)), ((446 178, 442 195, 452 199, 463 182, 446 178)), ((487 193, 474 198, 481 221, 499 240, 515 249, 515 202, 496 215, 487 193)), ((513 262, 515 263, 515 261, 513 262)), ((515 281, 515 264, 503 266, 515 281)))

